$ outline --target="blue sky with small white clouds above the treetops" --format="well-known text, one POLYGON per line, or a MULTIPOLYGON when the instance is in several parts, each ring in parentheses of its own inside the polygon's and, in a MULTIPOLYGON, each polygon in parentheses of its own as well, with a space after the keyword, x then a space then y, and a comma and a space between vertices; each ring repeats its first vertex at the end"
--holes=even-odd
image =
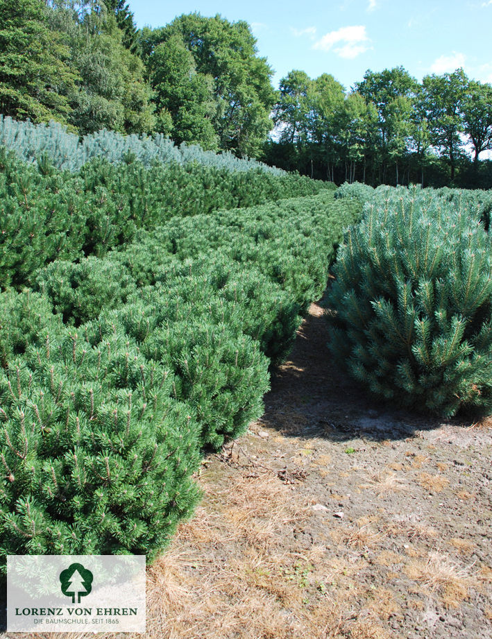
POLYGON ((139 27, 163 26, 193 11, 246 20, 275 71, 275 88, 291 69, 312 78, 332 74, 349 89, 366 69, 398 65, 418 80, 463 67, 470 78, 492 83, 492 0, 129 2, 139 27))

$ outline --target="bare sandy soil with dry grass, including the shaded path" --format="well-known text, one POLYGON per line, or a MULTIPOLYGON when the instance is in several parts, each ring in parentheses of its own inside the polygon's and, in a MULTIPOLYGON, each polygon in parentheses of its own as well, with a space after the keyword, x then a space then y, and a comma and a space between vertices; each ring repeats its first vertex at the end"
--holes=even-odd
POLYGON ((326 341, 314 304, 262 420, 203 461, 149 639, 492 638, 489 421, 378 404, 326 341))

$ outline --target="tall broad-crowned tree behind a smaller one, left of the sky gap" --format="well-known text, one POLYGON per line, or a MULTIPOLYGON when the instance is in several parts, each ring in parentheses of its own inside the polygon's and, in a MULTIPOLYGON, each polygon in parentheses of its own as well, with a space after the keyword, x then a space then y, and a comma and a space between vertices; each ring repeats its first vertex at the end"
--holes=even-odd
MULTIPOLYGON (((192 13, 177 17, 165 27, 144 30, 142 51, 151 81, 152 74, 162 75, 153 58, 160 44, 169 40, 174 46, 180 40, 192 54, 193 73, 207 82, 212 80, 210 121, 219 147, 238 155, 257 155, 271 129, 269 116, 275 92, 270 82, 273 71, 265 58, 257 56, 249 25, 229 22, 220 15, 208 18, 192 13)), ((182 88, 178 83, 178 93, 182 88)))

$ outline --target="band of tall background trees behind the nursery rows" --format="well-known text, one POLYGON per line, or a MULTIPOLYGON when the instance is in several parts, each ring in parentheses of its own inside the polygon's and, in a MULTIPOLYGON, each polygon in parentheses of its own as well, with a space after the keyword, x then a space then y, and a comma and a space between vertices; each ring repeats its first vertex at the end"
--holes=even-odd
POLYGON ((368 70, 349 90, 294 69, 275 90, 243 21, 138 30, 124 0, 0 0, 0 13, 4 116, 163 133, 337 183, 491 185, 492 86, 463 69, 421 83, 368 70))

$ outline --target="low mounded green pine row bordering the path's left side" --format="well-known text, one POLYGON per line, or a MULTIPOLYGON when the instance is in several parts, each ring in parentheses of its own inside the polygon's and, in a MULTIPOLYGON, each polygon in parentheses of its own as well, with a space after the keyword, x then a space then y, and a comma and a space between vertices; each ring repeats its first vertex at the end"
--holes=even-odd
POLYGON ((262 413, 358 203, 173 217, 0 293, 0 553, 149 559, 205 450, 262 413))

